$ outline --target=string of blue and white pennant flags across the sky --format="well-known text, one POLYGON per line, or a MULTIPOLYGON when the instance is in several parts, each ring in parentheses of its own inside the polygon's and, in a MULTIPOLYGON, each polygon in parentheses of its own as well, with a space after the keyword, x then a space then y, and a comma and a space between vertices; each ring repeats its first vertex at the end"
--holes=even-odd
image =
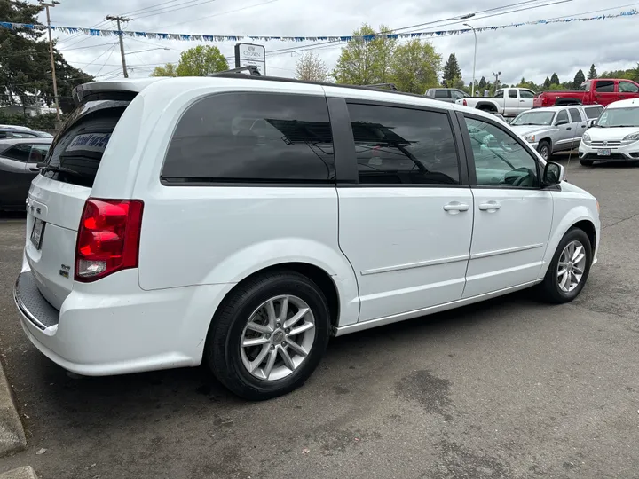
MULTIPOLYGON (((639 11, 633 9, 627 12, 613 13, 610 15, 597 15, 596 17, 588 18, 564 18, 564 19, 549 19, 549 20, 533 20, 519 23, 510 23, 509 25, 493 25, 492 27, 476 27, 476 32, 495 31, 502 28, 511 27, 523 27, 525 25, 548 25, 551 23, 568 23, 572 21, 593 21, 593 20, 611 20, 619 19, 621 17, 631 17, 639 15, 639 11)), ((0 21, 0 28, 6 28, 8 30, 46 30, 45 25, 36 25, 30 23, 13 23, 11 21, 0 21)), ((248 38, 254 42, 372 42, 378 38, 430 38, 435 36, 452 36, 467 34, 472 31, 471 28, 463 28, 458 30, 442 30, 442 31, 429 31, 429 32, 409 32, 409 33, 390 33, 390 34, 377 34, 377 35, 326 35, 326 36, 264 36, 264 35, 193 35, 193 34, 171 34, 171 33, 158 33, 158 32, 137 32, 130 30, 102 30, 98 28, 83 28, 83 27, 54 27, 51 26, 51 31, 58 32, 60 34, 72 35, 76 33, 82 33, 90 36, 133 36, 141 38, 152 38, 159 40, 177 40, 180 42, 239 42, 244 38, 248 38)))

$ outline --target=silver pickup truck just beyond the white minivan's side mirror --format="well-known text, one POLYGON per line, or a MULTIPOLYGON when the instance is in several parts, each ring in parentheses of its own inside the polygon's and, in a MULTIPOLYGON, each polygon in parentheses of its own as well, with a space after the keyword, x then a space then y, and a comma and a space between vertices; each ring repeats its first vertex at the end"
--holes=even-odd
POLYGON ((579 146, 588 117, 578 105, 548 106, 519 114, 510 126, 548 161, 556 152, 579 146))

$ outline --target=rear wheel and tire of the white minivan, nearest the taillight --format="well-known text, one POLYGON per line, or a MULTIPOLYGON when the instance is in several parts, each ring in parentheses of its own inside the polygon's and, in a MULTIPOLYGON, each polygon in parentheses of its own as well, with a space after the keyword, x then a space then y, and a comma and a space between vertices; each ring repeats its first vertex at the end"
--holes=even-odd
POLYGON ((330 334, 324 294, 294 271, 241 284, 217 311, 205 360, 239 397, 264 400, 304 384, 324 356, 330 334))

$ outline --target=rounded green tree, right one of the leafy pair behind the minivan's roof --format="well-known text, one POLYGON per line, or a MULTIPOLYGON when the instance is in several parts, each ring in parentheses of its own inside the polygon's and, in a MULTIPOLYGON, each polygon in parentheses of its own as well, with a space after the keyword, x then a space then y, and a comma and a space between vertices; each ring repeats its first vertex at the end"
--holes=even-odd
MULTIPOLYGON (((418 39, 399 45, 390 65, 392 82, 398 90, 421 95, 438 86, 440 70, 441 55, 430 42, 422 43, 418 39)), ((452 81, 457 85, 459 79, 452 81)))

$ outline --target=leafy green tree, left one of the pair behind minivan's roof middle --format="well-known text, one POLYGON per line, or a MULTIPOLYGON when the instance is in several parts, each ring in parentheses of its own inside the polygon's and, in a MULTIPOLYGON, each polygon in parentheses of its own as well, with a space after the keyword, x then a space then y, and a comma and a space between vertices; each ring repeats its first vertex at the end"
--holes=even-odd
MULTIPOLYGON (((379 31, 389 33, 390 29, 381 26, 379 31)), ((388 82, 390 61, 397 40, 373 36, 375 30, 366 23, 359 30, 355 30, 352 35, 359 38, 346 43, 346 46, 342 48, 333 71, 335 81, 352 85, 388 82)))

